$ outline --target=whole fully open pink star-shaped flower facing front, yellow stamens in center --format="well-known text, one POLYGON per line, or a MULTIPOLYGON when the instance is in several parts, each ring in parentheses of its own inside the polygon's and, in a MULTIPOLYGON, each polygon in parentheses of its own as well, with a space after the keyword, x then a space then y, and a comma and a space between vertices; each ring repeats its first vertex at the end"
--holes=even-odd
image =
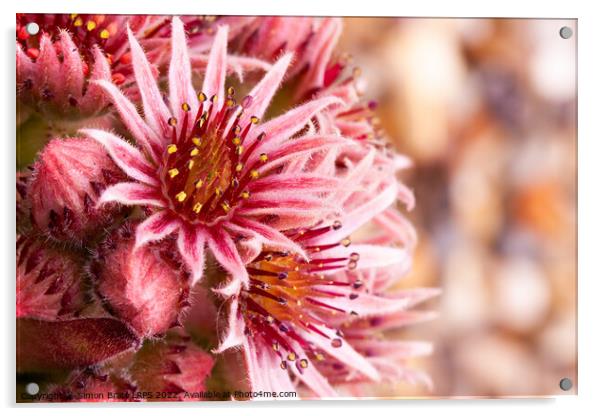
POLYGON ((136 247, 177 233, 177 247, 193 276, 203 273, 207 245, 234 277, 224 293, 248 285, 248 273, 233 235, 302 252, 271 224, 314 224, 334 204, 323 195, 338 181, 312 172, 281 172, 291 159, 340 146, 336 136, 298 134, 310 118, 335 105, 331 97, 310 101, 267 123, 259 123, 277 90, 291 55, 286 54, 237 105, 224 87, 227 27, 220 27, 211 48, 202 92, 195 94, 182 22, 174 18, 169 67, 169 106, 155 83, 150 64, 130 32, 134 73, 145 118, 115 85, 98 85, 119 111, 136 139, 135 147, 112 133, 86 129, 102 143, 134 181, 108 188, 100 203, 152 207, 136 230, 136 247))

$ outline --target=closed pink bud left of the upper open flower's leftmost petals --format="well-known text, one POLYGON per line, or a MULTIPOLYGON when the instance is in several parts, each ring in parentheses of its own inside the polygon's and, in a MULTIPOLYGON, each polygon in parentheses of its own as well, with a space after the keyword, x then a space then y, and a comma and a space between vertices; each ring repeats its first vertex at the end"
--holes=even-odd
POLYGON ((97 209, 96 201, 122 177, 94 140, 52 140, 38 156, 27 189, 33 224, 55 239, 79 243, 94 238, 119 213, 115 207, 97 209))

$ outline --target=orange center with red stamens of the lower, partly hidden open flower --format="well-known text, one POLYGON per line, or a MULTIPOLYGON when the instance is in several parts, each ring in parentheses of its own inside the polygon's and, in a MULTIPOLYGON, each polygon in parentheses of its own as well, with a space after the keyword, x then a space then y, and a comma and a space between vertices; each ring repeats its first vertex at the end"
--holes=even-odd
MULTIPOLYGON (((348 238, 333 244, 303 244, 303 241, 337 227, 340 227, 340 223, 335 222, 328 227, 297 231, 289 238, 304 245, 310 255, 339 245, 348 246, 351 243, 348 238)), ((281 359, 283 369, 288 368, 288 362, 295 362, 297 369, 303 371, 309 364, 306 358, 301 358, 303 355, 322 361, 323 351, 306 341, 301 333, 313 332, 328 339, 334 348, 342 346, 341 331, 336 331, 336 336, 331 337, 320 328, 328 327, 332 317, 349 313, 329 304, 329 300, 346 296, 357 298, 359 295, 351 292, 352 289, 359 289, 362 282, 337 281, 325 275, 325 272, 353 270, 358 260, 357 253, 349 257, 310 258, 306 261, 288 252, 262 252, 247 266, 251 286, 241 294, 246 335, 253 337, 255 342, 260 337, 271 346, 281 359), (335 290, 341 287, 347 290, 335 290)))

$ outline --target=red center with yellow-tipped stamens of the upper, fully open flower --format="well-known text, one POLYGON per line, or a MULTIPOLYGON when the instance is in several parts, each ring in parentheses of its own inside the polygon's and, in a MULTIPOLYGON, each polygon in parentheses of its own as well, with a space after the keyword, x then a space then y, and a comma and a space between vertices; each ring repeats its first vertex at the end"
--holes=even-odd
POLYGON ((238 122, 251 97, 245 97, 242 105, 237 106, 233 95, 234 90, 229 88, 225 103, 217 108, 217 96, 207 100, 205 94, 200 93, 201 105, 191 129, 188 129, 190 106, 187 103, 182 104, 185 117, 179 132, 177 120, 168 120, 172 139, 165 152, 163 192, 173 209, 191 222, 214 222, 249 199, 251 193, 247 186, 259 178, 257 168, 268 160, 262 153, 252 166, 246 166, 265 134, 260 134, 245 149, 245 139, 259 119, 251 117, 241 127, 238 122), (231 122, 234 114, 234 122, 231 122))

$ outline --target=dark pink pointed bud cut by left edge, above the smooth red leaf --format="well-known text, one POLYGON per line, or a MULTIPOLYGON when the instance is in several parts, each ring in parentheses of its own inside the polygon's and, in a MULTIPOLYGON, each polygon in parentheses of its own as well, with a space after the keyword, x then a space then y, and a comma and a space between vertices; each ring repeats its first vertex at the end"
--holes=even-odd
POLYGON ((17 238, 17 318, 55 320, 85 306, 82 270, 73 256, 33 237, 17 238))

